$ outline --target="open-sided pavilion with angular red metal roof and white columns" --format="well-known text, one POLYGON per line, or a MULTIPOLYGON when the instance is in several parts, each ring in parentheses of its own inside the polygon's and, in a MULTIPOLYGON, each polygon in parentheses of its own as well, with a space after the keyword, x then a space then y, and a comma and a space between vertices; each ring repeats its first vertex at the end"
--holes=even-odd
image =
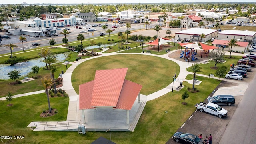
MULTIPOLYGON (((108 112, 126 113, 123 118, 118 119, 126 119, 126 124, 129 124, 129 111, 132 109, 136 99, 140 103, 142 86, 125 79, 127 70, 128 68, 96 70, 94 80, 80 84, 79 109, 82 110, 84 123, 90 121, 85 115, 85 110, 92 109, 95 114, 102 109, 106 113, 104 112, 101 115, 108 112)), ((95 121, 98 119, 101 118, 94 118, 95 121)))

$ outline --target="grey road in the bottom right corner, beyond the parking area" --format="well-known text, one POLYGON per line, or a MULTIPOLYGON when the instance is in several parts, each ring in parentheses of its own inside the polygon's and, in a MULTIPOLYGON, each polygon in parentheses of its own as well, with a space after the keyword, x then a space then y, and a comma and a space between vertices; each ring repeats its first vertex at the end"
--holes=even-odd
POLYGON ((230 120, 219 144, 255 144, 256 135, 256 75, 230 120))

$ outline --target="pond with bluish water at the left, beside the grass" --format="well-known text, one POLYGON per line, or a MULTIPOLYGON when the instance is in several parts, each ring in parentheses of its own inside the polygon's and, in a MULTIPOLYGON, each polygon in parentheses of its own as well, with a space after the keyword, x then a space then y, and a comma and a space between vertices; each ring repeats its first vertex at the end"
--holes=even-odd
MULTIPOLYGON (((64 62, 65 56, 67 57, 70 53, 72 52, 54 54, 54 57, 58 62, 64 62)), ((31 68, 33 66, 38 66, 40 68, 46 66, 44 62, 41 62, 41 60, 43 59, 44 58, 36 58, 36 59, 28 60, 26 62, 18 62, 13 65, 0 64, 0 79, 2 80, 10 79, 7 74, 13 70, 18 70, 21 76, 26 76, 28 73, 31 72, 31 68)))

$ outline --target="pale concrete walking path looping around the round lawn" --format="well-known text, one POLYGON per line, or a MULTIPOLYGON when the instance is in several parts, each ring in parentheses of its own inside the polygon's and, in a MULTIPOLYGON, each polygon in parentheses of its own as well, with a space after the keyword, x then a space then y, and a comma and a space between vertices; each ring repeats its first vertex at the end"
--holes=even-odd
MULTIPOLYGON (((104 52, 104 51, 105 50, 103 50, 102 52, 104 52)), ((124 50, 120 50, 120 51, 124 51, 124 50)), ((166 58, 168 60, 172 60, 172 61, 176 62, 180 66, 180 72, 179 72, 178 77, 176 78, 176 80, 178 82, 174 81, 171 84, 169 84, 168 86, 166 86, 166 88, 163 88, 162 90, 158 90, 157 92, 149 94, 148 96, 144 96, 144 95, 141 94, 141 99, 144 100, 144 101, 154 100, 154 99, 156 99, 156 98, 158 98, 160 96, 163 96, 164 94, 167 94, 167 93, 171 92, 172 91, 172 87, 173 87, 173 90, 175 90, 178 86, 180 86, 180 82, 182 82, 183 80, 190 82, 191 80, 186 80, 186 76, 188 74, 193 74, 192 72, 188 72, 186 70, 187 67, 190 67, 190 66, 192 66, 192 64, 194 64, 193 62, 188 63, 186 61, 180 61, 180 60, 176 60, 176 59, 168 57, 168 55, 173 53, 173 52, 175 52, 175 50, 173 50, 171 52, 168 52, 168 53, 166 53, 164 55, 155 55, 155 54, 148 54, 148 53, 117 53, 117 52, 102 53, 102 52, 98 52, 98 54, 100 54, 99 56, 94 56, 94 57, 90 57, 90 58, 86 58, 86 59, 80 59, 77 62, 71 62, 72 65, 62 75, 63 86, 60 87, 60 88, 65 90, 66 93, 69 96, 69 106, 68 106, 67 121, 68 120, 81 120, 82 119, 81 110, 79 110, 79 97, 78 97, 78 94, 76 93, 76 91, 74 90, 74 88, 72 87, 71 75, 72 75, 73 70, 76 68, 76 66, 78 66, 79 64, 81 64, 82 62, 85 62, 87 60, 90 60, 90 59, 93 59, 93 58, 102 57, 102 56, 111 56, 111 55, 120 55, 120 54, 141 54, 141 55, 153 55, 153 56, 157 56, 157 57, 160 57, 160 58, 166 58)), ((236 53, 234 53, 234 55, 235 54, 236 53)), ((236 54, 236 55, 244 55, 244 54, 236 54)), ((201 61, 199 63, 203 63, 204 61, 205 60, 203 60, 203 61, 201 61)), ((203 74, 196 74, 196 75, 197 76, 208 77, 207 75, 203 75, 203 74)), ((226 80, 226 79, 220 78, 220 80, 226 80)), ((221 92, 219 92, 219 93, 222 94, 223 92, 226 92, 227 89, 232 89, 234 94, 238 94, 239 93, 240 95, 242 95, 241 93, 243 93, 246 90, 246 88, 248 87, 248 83, 246 83, 246 82, 237 81, 237 80, 228 80, 228 81, 241 84, 242 87, 234 87, 234 88, 226 87, 226 88, 222 88, 221 92)), ((200 83, 196 83, 196 84, 200 84, 200 83)), ((40 91, 36 91, 36 92, 29 92, 29 93, 25 93, 25 94, 18 94, 18 95, 14 95, 14 98, 18 98, 18 97, 21 97, 21 96, 28 96, 28 95, 32 95, 32 94, 39 94, 39 93, 44 93, 44 92, 45 92, 45 90, 40 90, 40 91)), ((5 97, 0 98, 0 100, 5 100, 5 97)), ((138 108, 139 106, 135 105, 135 107, 138 108)), ((135 114, 132 113, 132 115, 135 115, 135 114)), ((100 122, 100 123, 104 123, 104 122, 100 122)), ((101 125, 101 127, 104 127, 104 124, 101 125)), ((96 125, 96 124, 93 123, 92 125, 96 125)), ((115 125, 115 127, 118 127, 118 122, 116 124, 114 124, 114 125, 115 125)), ((34 122, 31 122, 28 126, 34 126, 34 122)), ((88 125, 86 127, 88 127, 88 125)), ((109 128, 109 127, 106 126, 106 128, 109 128)))

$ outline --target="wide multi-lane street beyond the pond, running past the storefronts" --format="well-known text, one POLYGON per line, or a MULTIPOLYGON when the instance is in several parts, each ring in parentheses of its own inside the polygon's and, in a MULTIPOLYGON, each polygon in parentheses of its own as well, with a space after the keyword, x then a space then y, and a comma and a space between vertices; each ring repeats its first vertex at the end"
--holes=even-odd
MULTIPOLYGON (((91 25, 96 24, 96 23, 90 23, 91 25)), ((113 23, 108 23, 108 29, 113 29, 111 28, 111 24, 113 23)), ((154 26, 156 23, 152 23, 150 24, 150 26, 154 26)), ((141 30, 144 29, 144 26, 142 24, 132 24, 131 25, 132 28, 129 28, 129 31, 133 31, 133 30, 141 30)), ((87 33, 80 33, 81 30, 88 30, 88 29, 76 29, 74 27, 69 27, 70 30, 70 34, 68 34, 66 36, 66 38, 68 38, 68 42, 75 42, 77 41, 76 37, 78 34, 83 34, 85 39, 88 38, 96 38, 98 36, 100 36, 100 33, 103 32, 102 27, 92 27, 95 28, 97 31, 94 32, 87 32, 87 33)), ((126 28, 125 26, 120 26, 118 28, 114 28, 115 30, 111 33, 111 34, 117 34, 118 30, 120 30, 121 32, 125 32, 126 28)), ((107 29, 105 29, 106 32, 107 29)), ((57 31, 57 33, 59 33, 61 31, 57 31)), ((4 33, 0 33, 0 35, 4 35, 4 33)), ((106 36, 108 36, 108 34, 106 34, 106 36)), ((2 40, 2 45, 0 46, 0 54, 7 54, 10 53, 10 48, 6 48, 4 47, 5 44, 8 44, 9 42, 12 42, 13 44, 17 45, 18 48, 13 48, 12 52, 18 52, 18 51, 22 51, 22 42, 19 42, 18 38, 20 36, 11 36, 10 39, 3 39, 2 40)), ((62 44, 62 38, 64 38, 64 35, 59 34, 59 36, 51 36, 51 37, 33 37, 33 36, 24 36, 27 38, 27 42, 24 42, 24 50, 28 50, 28 49, 33 49, 36 47, 43 47, 43 46, 49 46, 48 42, 51 38, 54 38, 57 41, 57 44, 62 44), (32 46, 33 43, 40 43, 40 46, 32 46)))

